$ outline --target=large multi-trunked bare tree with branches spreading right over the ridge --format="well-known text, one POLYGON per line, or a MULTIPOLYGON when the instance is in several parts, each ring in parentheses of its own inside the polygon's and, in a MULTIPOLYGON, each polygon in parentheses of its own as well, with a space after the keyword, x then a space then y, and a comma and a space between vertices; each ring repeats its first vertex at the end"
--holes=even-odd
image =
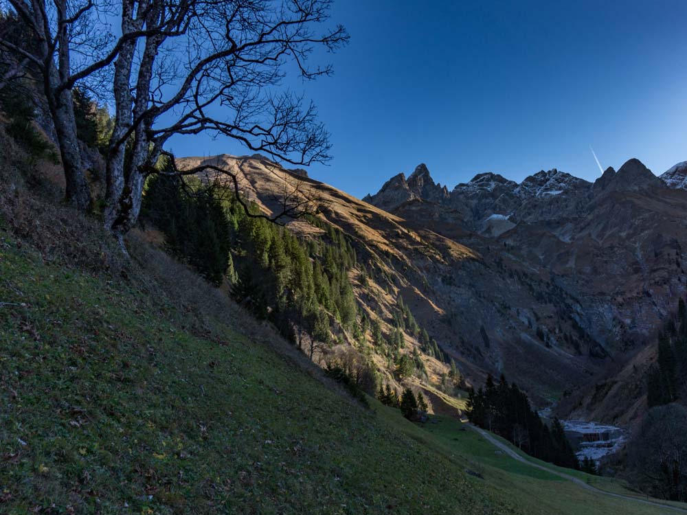
POLYGON ((288 163, 326 161, 315 108, 280 82, 289 62, 304 78, 330 73, 306 67, 315 45, 334 50, 348 40, 341 26, 313 32, 329 10, 330 0, 125 0, 122 38, 144 36, 115 60, 106 228, 121 239, 133 227, 146 175, 174 135, 207 132, 288 163))

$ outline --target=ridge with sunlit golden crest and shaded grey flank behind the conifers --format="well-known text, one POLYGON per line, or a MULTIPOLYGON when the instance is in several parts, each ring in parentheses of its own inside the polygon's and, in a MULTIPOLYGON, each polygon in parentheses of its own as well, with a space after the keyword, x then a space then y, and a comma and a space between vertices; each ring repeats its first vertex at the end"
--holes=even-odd
MULTIPOLYGON (((402 298, 469 380, 503 371, 535 394, 556 396, 594 373, 598 356, 605 355, 578 324, 581 304, 554 284, 554 275, 533 268, 501 242, 460 228, 453 238, 442 236, 442 228, 455 227, 450 220, 423 227, 405 213, 405 218, 389 214, 259 156, 178 161, 186 168, 207 163, 232 170, 243 194, 266 212, 280 207, 275 198, 284 192, 315 199, 320 218, 343 231, 355 248, 359 266, 351 279, 370 319, 381 320, 390 333, 402 298)), ((403 206, 424 213, 429 212, 425 206, 432 209, 436 203, 414 199, 403 206)), ((429 214, 442 217, 440 210, 429 214)), ((305 237, 317 234, 305 220, 287 227, 305 237)), ((411 334, 406 337, 414 342, 411 334)), ((377 363, 388 370, 383 361, 377 363)), ((430 380, 436 381, 440 367, 427 368, 433 371, 430 380)))

